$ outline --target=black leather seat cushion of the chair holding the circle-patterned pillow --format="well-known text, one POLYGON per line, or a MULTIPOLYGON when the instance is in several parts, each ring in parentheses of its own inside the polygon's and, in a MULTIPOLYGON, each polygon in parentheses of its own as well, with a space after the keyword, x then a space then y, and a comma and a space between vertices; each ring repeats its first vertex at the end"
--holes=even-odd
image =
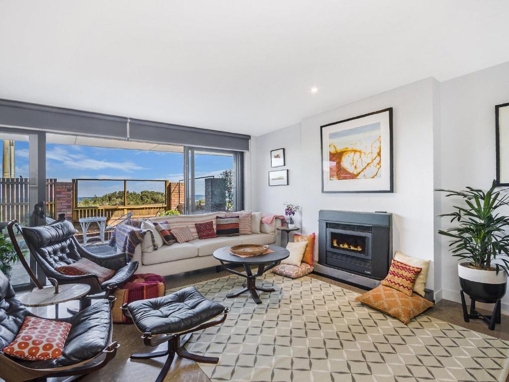
POLYGON ((62 350, 62 356, 54 360, 18 363, 33 369, 69 366, 97 356, 109 345, 112 323, 109 302, 106 300, 100 300, 83 309, 70 321, 71 331, 62 350))

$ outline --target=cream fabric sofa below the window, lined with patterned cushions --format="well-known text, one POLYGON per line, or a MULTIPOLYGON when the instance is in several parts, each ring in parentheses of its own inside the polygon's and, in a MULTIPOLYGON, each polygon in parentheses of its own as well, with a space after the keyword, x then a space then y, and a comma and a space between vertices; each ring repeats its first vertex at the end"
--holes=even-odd
MULTIPOLYGON (((204 217, 223 216, 223 212, 214 212, 211 214, 193 215, 197 221, 203 221, 204 217)), ((182 215, 181 215, 182 216, 182 215)), ((165 222, 170 226, 172 220, 178 219, 177 216, 159 216, 148 219, 149 222, 165 222)), ((280 227, 279 219, 274 219, 272 224, 260 223, 260 229, 252 228, 253 231, 260 233, 251 233, 250 235, 240 235, 231 237, 214 237, 211 239, 194 239, 185 243, 175 243, 172 245, 161 245, 157 250, 153 250, 150 235, 146 235, 144 242, 137 245, 132 261, 138 261, 139 266, 137 273, 154 273, 162 276, 169 276, 220 265, 212 253, 227 245, 237 244, 280 244, 279 231, 276 227, 280 227), (147 240, 147 241, 146 241, 147 240), (150 242, 148 241, 150 240, 150 242), (142 250, 142 247, 144 250, 142 250)), ((142 227, 146 228, 146 227, 142 227)), ((157 231, 154 235, 159 235, 157 231)), ((160 236, 160 235, 159 235, 160 236)), ((162 240, 162 239, 161 239, 162 240)))

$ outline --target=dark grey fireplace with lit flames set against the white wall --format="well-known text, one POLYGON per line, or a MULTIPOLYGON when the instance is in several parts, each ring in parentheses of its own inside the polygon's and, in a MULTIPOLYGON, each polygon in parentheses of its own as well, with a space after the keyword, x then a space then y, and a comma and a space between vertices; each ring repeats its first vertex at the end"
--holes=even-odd
POLYGON ((318 263, 375 280, 387 276, 392 254, 392 215, 319 211, 318 263))

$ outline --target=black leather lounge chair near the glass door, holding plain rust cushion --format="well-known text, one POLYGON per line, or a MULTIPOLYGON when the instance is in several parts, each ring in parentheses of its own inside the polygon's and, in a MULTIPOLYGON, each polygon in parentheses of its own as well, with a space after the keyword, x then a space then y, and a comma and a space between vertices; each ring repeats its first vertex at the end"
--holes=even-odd
POLYGON ((108 256, 97 256, 87 251, 74 237, 74 226, 65 219, 65 214, 59 215, 59 219, 39 227, 21 227, 15 221, 9 223, 9 236, 14 244, 18 257, 25 266, 35 284, 41 288, 37 278, 33 275, 30 267, 24 261, 14 235, 14 227, 17 227, 30 253, 36 259, 47 278, 53 278, 59 284, 87 284, 90 285, 90 293, 80 298, 80 310, 91 305, 91 298, 106 298, 116 288, 124 285, 138 268, 137 261, 127 261, 125 253, 108 256), (96 275, 68 276, 56 271, 55 268, 72 264, 80 258, 87 258, 105 268, 114 269, 116 273, 111 279, 99 284, 96 275))

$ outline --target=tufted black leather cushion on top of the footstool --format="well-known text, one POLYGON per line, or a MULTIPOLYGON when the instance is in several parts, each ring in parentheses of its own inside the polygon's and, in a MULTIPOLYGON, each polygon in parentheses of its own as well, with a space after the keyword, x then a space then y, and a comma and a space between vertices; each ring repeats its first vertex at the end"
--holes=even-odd
POLYGON ((152 334, 185 332, 224 311, 221 304, 205 298, 194 287, 163 297, 135 301, 127 309, 137 328, 152 334))

